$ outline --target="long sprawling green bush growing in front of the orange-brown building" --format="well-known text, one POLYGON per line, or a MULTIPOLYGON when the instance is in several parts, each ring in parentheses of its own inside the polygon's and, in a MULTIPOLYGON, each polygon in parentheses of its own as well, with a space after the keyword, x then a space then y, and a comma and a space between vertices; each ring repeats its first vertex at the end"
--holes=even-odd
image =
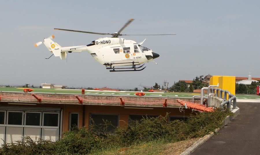
POLYGON ((111 132, 107 132, 111 123, 104 121, 104 124, 93 124, 89 129, 83 127, 64 132, 63 138, 57 142, 35 142, 26 137, 24 142, 2 145, 0 154, 88 154, 95 150, 128 147, 160 139, 176 142, 214 131, 222 126, 227 115, 231 113, 216 109, 214 112, 196 113, 187 121, 167 121, 168 114, 165 117, 144 117, 141 122, 131 121, 128 127, 117 127, 111 132))

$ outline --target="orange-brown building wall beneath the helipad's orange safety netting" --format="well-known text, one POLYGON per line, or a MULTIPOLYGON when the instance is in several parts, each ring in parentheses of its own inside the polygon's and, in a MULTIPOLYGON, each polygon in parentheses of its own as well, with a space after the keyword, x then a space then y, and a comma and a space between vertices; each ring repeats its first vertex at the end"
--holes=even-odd
MULTIPOLYGON (((60 108, 62 110, 61 129, 62 132, 68 131, 70 127, 70 113, 78 113, 79 128, 89 126, 90 114, 116 114, 119 116, 119 127, 127 126, 129 121, 129 115, 162 115, 170 113, 170 116, 189 116, 192 111, 185 109, 184 113, 179 111, 179 108, 169 107, 152 107, 153 109, 126 109, 124 106, 105 106, 105 105, 79 105, 79 104, 36 104, 36 105, 23 105, 21 104, 8 104, 0 102, 0 107, 23 107, 23 108, 35 108, 41 110, 44 108, 60 108)), ((149 107, 151 108, 151 107, 149 107)))

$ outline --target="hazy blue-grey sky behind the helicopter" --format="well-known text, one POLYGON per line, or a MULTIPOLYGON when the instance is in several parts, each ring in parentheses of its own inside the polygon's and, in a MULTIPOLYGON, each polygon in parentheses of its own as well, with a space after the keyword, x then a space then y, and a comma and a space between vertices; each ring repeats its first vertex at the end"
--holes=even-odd
POLYGON ((2 1, 0 6, 0 85, 133 89, 164 80, 192 80, 200 75, 260 77, 260 1, 2 1), (61 46, 86 45, 109 37, 57 31, 53 28, 101 33, 172 34, 124 36, 158 53, 140 72, 109 72, 88 52, 51 57, 42 44, 55 35, 61 46))

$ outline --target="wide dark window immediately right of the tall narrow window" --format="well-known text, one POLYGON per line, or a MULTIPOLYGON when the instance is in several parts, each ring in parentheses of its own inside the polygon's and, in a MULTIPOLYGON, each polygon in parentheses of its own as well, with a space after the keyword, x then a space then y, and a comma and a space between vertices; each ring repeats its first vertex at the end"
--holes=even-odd
MULTIPOLYGON (((93 119, 95 124, 101 129, 103 129, 102 128, 102 124, 104 124, 103 120, 107 120, 111 122, 112 126, 108 126, 107 132, 114 130, 115 127, 118 126, 118 115, 91 114, 90 117, 93 119)), ((90 122, 91 124, 93 124, 92 120, 90 120, 90 122)))

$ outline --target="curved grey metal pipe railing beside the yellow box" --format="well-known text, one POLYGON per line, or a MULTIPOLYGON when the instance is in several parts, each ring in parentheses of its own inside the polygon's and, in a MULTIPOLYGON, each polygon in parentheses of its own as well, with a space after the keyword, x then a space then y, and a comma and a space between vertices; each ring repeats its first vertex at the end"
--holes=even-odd
POLYGON ((231 94, 228 90, 217 88, 218 85, 210 85, 209 87, 203 87, 200 91, 200 96, 193 96, 192 99, 200 98, 200 104, 204 103, 204 98, 207 99, 207 105, 211 106, 211 97, 216 96, 223 99, 220 105, 226 105, 227 109, 231 109, 231 103, 233 101, 233 108, 237 108, 236 96, 231 94), (207 96, 204 96, 204 90, 207 90, 207 96), (228 100, 227 100, 228 97, 228 100))

